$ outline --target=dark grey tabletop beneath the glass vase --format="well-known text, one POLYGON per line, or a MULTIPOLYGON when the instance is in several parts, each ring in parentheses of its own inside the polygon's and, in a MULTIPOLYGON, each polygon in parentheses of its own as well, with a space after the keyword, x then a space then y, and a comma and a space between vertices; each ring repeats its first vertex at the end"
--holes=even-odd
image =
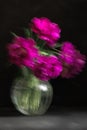
POLYGON ((0 130, 87 130, 86 109, 60 108, 42 116, 24 116, 10 109, 2 111, 0 130))

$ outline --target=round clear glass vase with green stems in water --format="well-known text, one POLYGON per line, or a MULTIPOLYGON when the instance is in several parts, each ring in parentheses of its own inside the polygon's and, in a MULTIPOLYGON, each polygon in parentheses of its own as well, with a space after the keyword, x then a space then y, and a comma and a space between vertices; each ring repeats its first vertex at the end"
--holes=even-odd
POLYGON ((53 89, 48 81, 39 80, 26 68, 13 81, 11 99, 15 108, 24 115, 43 115, 50 107, 53 89))

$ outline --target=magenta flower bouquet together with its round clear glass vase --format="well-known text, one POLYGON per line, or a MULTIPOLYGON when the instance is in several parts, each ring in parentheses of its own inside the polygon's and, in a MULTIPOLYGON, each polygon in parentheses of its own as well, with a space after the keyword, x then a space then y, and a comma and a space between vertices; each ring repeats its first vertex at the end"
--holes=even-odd
POLYGON ((49 80, 79 74, 86 57, 71 42, 59 43, 61 29, 46 17, 32 18, 24 32, 24 37, 13 33, 7 45, 10 62, 25 73, 14 82, 11 97, 23 114, 44 114, 53 95, 49 80))

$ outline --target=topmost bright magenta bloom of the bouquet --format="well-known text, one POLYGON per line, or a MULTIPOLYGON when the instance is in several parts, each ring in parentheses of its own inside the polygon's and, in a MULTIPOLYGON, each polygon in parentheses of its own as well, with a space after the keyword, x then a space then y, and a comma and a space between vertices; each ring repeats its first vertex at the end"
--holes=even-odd
POLYGON ((58 24, 51 22, 48 18, 34 17, 31 20, 31 29, 38 37, 47 42, 49 46, 54 46, 60 38, 61 29, 58 24))

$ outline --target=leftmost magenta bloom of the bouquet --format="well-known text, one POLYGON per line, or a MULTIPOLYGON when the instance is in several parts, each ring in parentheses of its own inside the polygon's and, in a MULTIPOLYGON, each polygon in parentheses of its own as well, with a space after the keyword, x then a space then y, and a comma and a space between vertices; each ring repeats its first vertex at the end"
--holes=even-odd
POLYGON ((35 41, 31 38, 14 37, 12 43, 7 47, 11 63, 18 66, 33 67, 34 60, 39 55, 35 44, 35 41))

